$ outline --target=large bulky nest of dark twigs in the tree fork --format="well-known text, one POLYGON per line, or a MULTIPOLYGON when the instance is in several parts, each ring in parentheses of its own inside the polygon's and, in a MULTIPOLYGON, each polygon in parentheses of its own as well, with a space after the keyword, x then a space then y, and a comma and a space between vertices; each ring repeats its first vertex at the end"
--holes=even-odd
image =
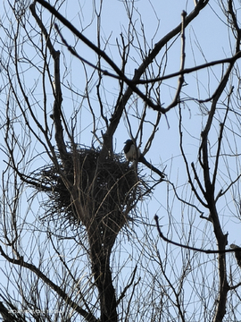
POLYGON ((103 241, 112 243, 122 226, 131 220, 131 210, 142 198, 146 184, 137 168, 129 166, 122 156, 114 155, 100 164, 99 155, 96 149, 80 148, 77 157, 68 154, 65 168, 42 168, 38 189, 47 193, 47 216, 60 221, 61 215, 65 224, 82 224, 87 230, 95 223, 103 241), (78 195, 76 192, 73 197, 64 178, 75 185, 78 195))

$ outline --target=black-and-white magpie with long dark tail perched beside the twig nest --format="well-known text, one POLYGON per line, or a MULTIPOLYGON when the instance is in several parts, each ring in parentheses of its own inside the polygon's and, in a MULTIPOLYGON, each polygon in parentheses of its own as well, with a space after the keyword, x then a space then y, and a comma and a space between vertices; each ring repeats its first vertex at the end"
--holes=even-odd
POLYGON ((137 161, 141 162, 144 165, 146 165, 149 169, 154 171, 156 174, 160 175, 161 179, 163 180, 165 178, 165 174, 162 173, 159 169, 157 169, 154 165, 150 164, 144 157, 144 155, 141 153, 140 149, 137 148, 136 144, 133 142, 133 140, 126 140, 125 146, 123 148, 125 157, 130 161, 137 161))

